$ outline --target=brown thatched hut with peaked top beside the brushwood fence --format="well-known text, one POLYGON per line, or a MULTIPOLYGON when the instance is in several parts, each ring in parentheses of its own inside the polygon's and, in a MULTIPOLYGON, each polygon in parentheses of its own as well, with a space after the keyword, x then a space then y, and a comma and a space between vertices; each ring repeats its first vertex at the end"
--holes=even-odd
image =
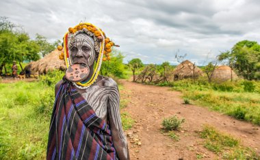
POLYGON ((174 80, 182 80, 183 78, 198 78, 198 76, 203 76, 203 71, 190 61, 186 60, 174 69, 173 76, 174 80))

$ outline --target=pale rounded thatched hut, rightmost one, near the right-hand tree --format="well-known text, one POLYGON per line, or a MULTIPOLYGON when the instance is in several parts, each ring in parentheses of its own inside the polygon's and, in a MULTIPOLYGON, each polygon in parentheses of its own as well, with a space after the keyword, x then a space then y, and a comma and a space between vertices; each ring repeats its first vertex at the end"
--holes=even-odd
POLYGON ((231 76, 233 80, 238 78, 237 74, 235 74, 231 67, 220 65, 213 71, 211 79, 217 82, 224 82, 226 80, 231 80, 231 76))

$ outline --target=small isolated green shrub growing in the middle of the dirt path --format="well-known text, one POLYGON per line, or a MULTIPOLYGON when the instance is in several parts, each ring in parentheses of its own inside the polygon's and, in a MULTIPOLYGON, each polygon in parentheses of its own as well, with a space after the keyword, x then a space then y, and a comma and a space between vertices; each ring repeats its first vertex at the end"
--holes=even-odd
POLYGON ((185 119, 179 119, 176 115, 170 117, 170 118, 164 118, 164 121, 161 123, 163 125, 164 129, 167 131, 173 131, 177 130, 181 127, 181 124, 185 122, 185 119))

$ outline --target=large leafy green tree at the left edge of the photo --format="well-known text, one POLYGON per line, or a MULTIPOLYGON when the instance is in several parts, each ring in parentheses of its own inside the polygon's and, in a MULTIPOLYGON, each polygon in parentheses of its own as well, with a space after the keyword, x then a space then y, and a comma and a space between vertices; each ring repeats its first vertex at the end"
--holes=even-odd
MULTIPOLYGON (((34 40, 29 38, 27 33, 13 31, 15 27, 6 18, 0 20, 0 74, 5 64, 18 61, 23 69, 21 62, 36 61, 40 59, 38 52, 40 48, 34 40)), ((6 70, 6 69, 5 69, 6 70)), ((6 72, 6 71, 5 71, 6 72)))

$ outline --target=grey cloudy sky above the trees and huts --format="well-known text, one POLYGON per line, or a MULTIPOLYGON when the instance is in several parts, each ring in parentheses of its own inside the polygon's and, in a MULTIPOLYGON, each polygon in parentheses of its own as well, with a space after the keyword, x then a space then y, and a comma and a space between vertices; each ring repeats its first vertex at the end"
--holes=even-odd
POLYGON ((205 65, 241 40, 260 42, 259 8, 257 0, 1 0, 0 16, 50 42, 91 22, 120 45, 125 62, 177 64, 178 53, 205 65))

